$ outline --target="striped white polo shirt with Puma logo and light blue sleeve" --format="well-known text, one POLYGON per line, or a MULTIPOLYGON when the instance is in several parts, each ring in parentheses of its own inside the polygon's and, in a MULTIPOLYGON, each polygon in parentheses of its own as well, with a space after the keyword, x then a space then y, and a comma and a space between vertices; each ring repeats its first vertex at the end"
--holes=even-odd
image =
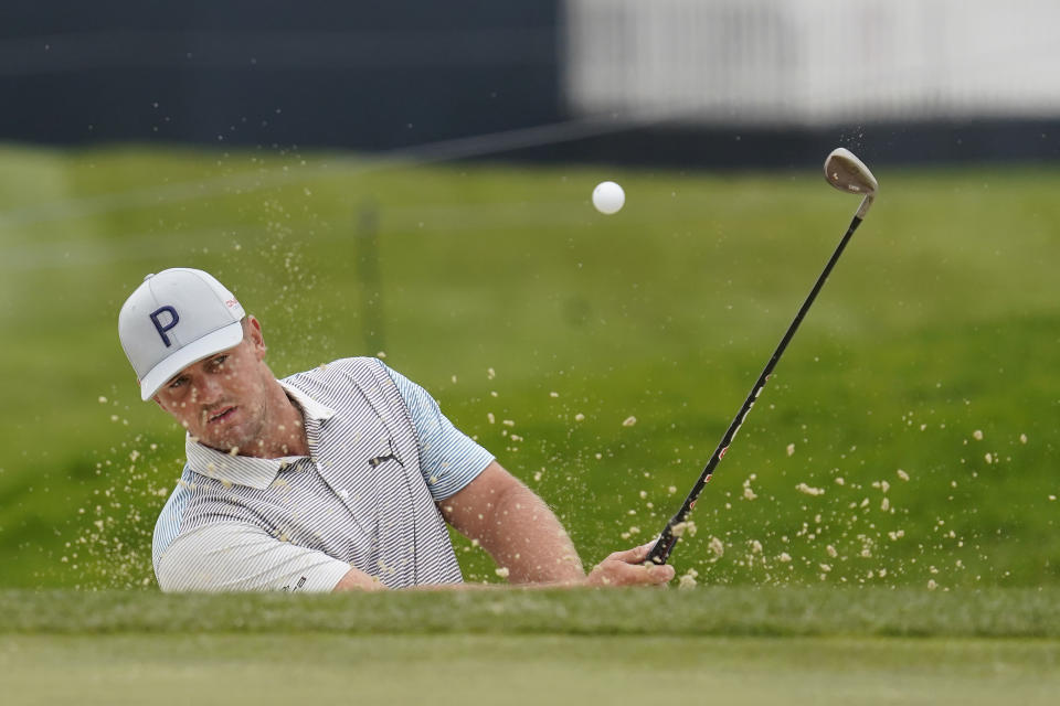
POLYGON ((377 359, 279 381, 308 457, 232 456, 188 438, 155 527, 163 591, 331 590, 354 567, 388 588, 463 580, 435 503, 492 456, 377 359))

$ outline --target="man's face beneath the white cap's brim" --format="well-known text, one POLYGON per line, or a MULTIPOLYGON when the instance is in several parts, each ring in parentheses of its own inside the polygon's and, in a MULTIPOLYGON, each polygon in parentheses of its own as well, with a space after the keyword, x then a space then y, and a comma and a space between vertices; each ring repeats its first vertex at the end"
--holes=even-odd
POLYGON ((159 388, 155 402, 200 443, 222 451, 251 449, 264 430, 267 383, 265 342, 253 318, 243 341, 189 365, 159 388))

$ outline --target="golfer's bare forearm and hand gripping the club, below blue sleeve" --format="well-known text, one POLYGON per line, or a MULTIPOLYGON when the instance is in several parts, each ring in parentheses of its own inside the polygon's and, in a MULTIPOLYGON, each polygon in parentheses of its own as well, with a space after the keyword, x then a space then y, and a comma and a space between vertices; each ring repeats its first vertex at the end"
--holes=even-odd
POLYGON ((586 577, 566 531, 533 491, 492 461, 455 495, 438 503, 445 520, 477 539, 512 584, 629 586, 665 584, 670 566, 640 566, 644 547, 616 552, 586 577))

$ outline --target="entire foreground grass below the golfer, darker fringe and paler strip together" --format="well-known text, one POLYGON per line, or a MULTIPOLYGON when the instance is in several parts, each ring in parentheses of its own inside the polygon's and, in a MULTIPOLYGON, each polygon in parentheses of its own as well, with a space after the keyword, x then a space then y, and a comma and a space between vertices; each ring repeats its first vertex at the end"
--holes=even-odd
POLYGON ((1050 704, 1058 606, 1056 589, 2 591, 0 674, 18 705, 1050 704))

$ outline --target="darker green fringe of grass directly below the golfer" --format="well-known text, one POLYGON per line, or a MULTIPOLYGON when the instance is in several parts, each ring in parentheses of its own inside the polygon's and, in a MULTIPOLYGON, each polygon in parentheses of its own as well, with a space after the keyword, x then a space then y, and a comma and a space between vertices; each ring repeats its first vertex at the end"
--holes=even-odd
POLYGON ((1060 639, 1057 589, 488 590, 289 596, 2 591, 0 633, 1060 639))

